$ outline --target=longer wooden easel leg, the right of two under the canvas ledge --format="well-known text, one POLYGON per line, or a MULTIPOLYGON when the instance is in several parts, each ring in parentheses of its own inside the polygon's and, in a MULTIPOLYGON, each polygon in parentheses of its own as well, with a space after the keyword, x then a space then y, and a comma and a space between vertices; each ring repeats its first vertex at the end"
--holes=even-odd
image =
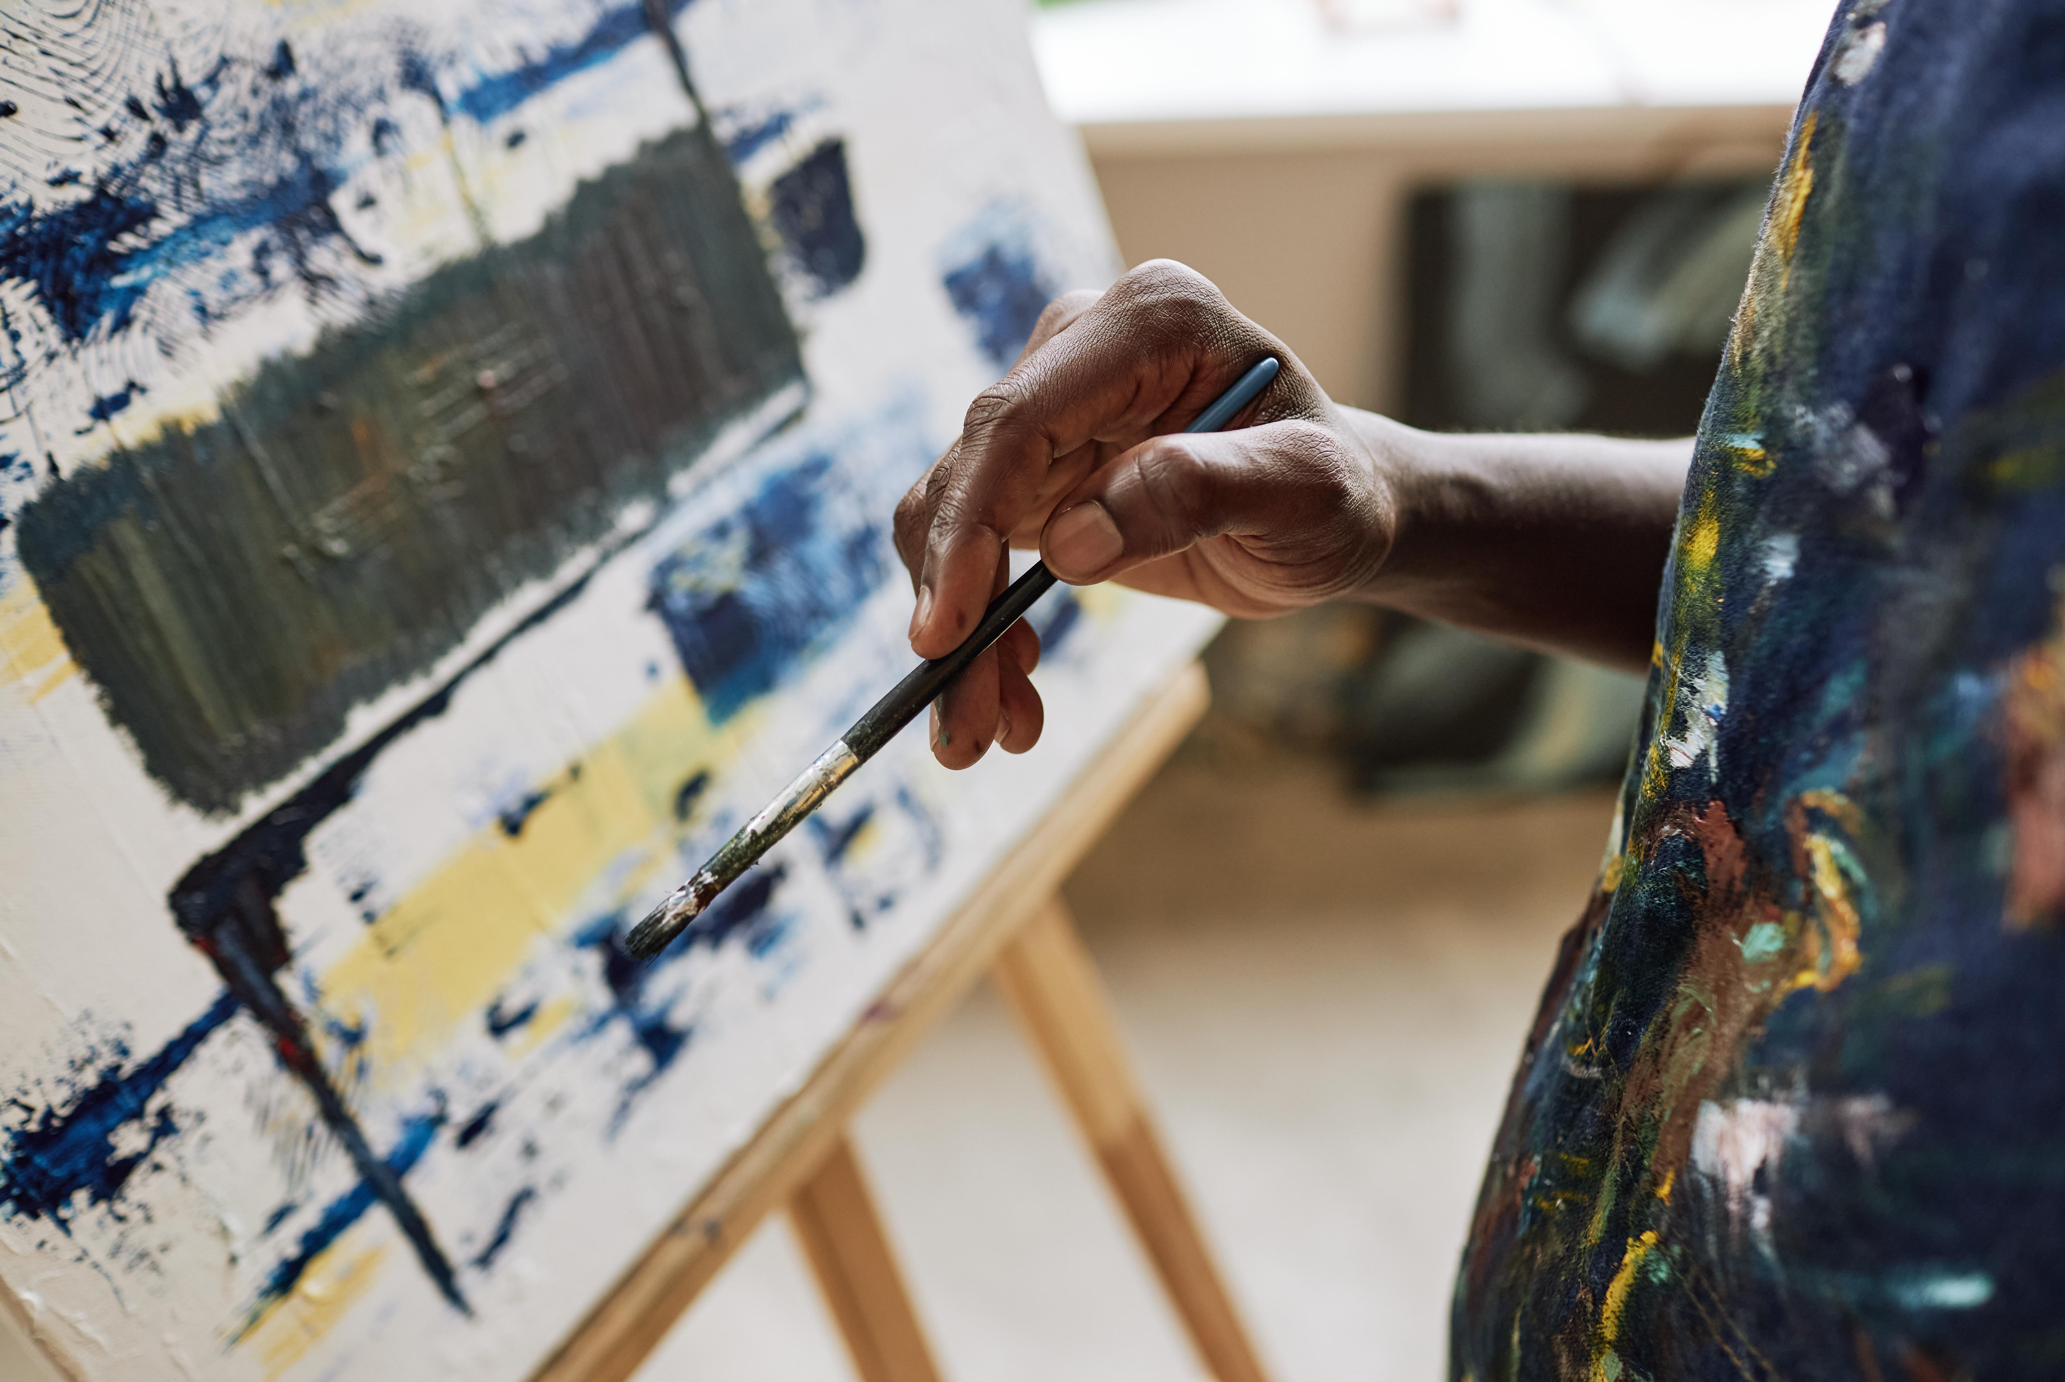
POLYGON ((1047 1060, 1206 1368, 1218 1382, 1266 1382, 1154 1136, 1105 985, 1059 899, 1004 946, 991 979, 1047 1060))

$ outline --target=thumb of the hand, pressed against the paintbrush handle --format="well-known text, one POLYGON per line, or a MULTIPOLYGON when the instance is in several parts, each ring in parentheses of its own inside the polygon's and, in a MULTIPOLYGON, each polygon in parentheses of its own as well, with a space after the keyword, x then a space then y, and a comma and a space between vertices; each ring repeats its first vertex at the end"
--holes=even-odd
POLYGON ((1309 421, 1156 436, 1055 504, 1041 558, 1090 585, 1208 537, 1299 547, 1340 521, 1355 488, 1340 442, 1309 421))

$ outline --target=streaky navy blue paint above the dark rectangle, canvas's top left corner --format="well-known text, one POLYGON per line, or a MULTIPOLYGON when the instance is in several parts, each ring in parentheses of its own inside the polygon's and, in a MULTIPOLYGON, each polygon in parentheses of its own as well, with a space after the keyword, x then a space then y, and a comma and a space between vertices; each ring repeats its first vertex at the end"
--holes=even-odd
MULTIPOLYGON (((347 287, 353 264, 380 264, 345 229, 332 198, 368 145, 374 157, 396 151, 401 126, 388 114, 396 97, 430 99, 444 120, 456 109, 487 122, 607 62, 688 4, 609 6, 586 33, 479 76, 450 101, 438 72, 465 58, 421 54, 407 41, 386 62, 353 54, 349 66, 320 74, 304 70, 285 39, 262 54, 225 54, 192 81, 167 56, 149 95, 130 93, 124 114, 103 126, 109 157, 85 198, 41 205, 19 186, 12 196, 0 192, 0 283, 25 285, 66 345, 134 326, 161 281, 184 285, 194 328, 289 285, 328 297, 347 287), (244 258, 225 262, 237 246, 244 258)), ((677 48, 671 29, 661 37, 669 52, 677 48)), ((47 186, 81 182, 85 174, 66 169, 47 186)), ((17 364, 14 374, 25 368, 17 364)))

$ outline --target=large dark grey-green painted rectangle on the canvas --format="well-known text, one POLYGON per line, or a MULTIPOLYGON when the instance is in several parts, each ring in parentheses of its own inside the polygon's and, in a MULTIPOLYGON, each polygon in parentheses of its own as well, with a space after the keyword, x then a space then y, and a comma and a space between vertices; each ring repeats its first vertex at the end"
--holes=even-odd
POLYGON ((217 421, 47 485, 21 560, 151 773, 229 810, 799 378, 698 124, 266 362, 217 421))

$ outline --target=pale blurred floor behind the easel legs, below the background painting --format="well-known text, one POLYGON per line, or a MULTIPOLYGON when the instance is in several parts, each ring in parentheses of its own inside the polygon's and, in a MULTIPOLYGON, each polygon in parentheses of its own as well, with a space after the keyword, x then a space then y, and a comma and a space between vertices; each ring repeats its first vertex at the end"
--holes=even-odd
MULTIPOLYGON (((1194 746, 1070 882, 1280 1382, 1443 1376, 1485 1149, 1609 810, 1605 793, 1371 808, 1322 764, 1194 746)), ((855 1140, 946 1378, 1204 1376, 987 987, 855 1140)), ((853 1378, 787 1225, 638 1374, 675 1378, 853 1378)))

